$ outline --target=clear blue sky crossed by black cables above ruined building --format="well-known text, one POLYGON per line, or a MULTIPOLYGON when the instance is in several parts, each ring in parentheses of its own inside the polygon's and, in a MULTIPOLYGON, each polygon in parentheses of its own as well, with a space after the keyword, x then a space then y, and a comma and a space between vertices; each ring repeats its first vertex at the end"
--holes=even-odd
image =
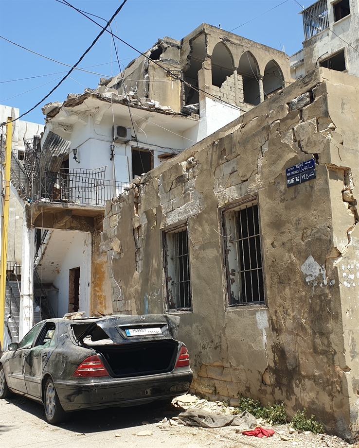
MULTIPOLYGON (((70 0, 70 3, 107 20, 120 5, 120 1, 114 0, 70 0)), ((299 3, 307 7, 313 1, 299 3)), ((233 33, 278 50, 284 46, 290 55, 302 48, 300 10, 294 0, 127 0, 113 22, 112 31, 144 52, 159 37, 181 39, 203 22, 220 24, 227 31, 239 26, 233 33), (276 5, 280 6, 265 13, 276 5), (248 20, 251 21, 242 25, 248 20)), ((0 16, 2 36, 69 65, 79 59, 100 32, 89 19, 55 0, 0 0, 0 16)), ((122 43, 118 52, 124 66, 138 55, 122 43)), ((110 35, 105 33, 79 67, 96 66, 88 70, 110 77, 119 72, 115 56, 110 35)), ((0 103, 26 112, 65 74, 55 73, 65 70, 68 68, 63 65, 0 39, 0 103), (35 76, 41 77, 4 82, 35 76)), ((95 88, 100 77, 77 70, 70 76, 43 104, 62 102, 68 93, 83 92, 85 87, 95 88)), ((40 105, 22 120, 42 123, 43 119, 40 105)))

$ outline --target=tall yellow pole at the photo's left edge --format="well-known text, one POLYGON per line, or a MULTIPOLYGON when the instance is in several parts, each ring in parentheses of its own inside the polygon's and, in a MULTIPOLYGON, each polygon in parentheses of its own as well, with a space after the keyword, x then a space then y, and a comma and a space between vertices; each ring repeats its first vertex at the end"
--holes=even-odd
POLYGON ((7 261, 7 234, 9 225, 9 201, 10 201, 10 166, 11 146, 13 135, 13 119, 8 117, 6 121, 6 147, 2 199, 2 232, 1 232, 1 266, 0 266, 0 349, 4 350, 4 320, 5 320, 5 288, 6 288, 6 261, 7 261))

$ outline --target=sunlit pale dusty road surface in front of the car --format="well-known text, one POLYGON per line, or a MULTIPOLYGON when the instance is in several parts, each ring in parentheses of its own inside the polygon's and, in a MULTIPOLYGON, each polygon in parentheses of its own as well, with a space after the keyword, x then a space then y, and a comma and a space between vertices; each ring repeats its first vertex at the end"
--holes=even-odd
MULTIPOLYGON (((215 406, 216 404, 213 403, 215 406)), ((218 404, 221 410, 220 404, 218 404)), ((183 409, 149 404, 132 408, 78 411, 53 426, 46 422, 43 406, 14 396, 0 400, 1 448, 349 448, 340 438, 312 433, 289 433, 288 425, 275 427, 270 438, 247 437, 235 428, 202 429, 177 426, 183 409), (166 422, 161 420, 166 417, 166 422), (171 419, 171 421, 170 421, 171 419), (148 435, 138 435, 145 432, 148 435)), ((359 448, 358 445, 355 445, 359 448)))

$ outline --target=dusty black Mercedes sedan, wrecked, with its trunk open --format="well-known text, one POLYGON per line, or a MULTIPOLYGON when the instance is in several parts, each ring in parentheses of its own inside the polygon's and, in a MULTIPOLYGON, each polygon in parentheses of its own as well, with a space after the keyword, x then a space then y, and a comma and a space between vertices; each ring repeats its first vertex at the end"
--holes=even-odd
POLYGON ((170 402, 193 378, 178 326, 166 314, 44 320, 2 355, 0 398, 40 401, 52 424, 68 411, 170 402))

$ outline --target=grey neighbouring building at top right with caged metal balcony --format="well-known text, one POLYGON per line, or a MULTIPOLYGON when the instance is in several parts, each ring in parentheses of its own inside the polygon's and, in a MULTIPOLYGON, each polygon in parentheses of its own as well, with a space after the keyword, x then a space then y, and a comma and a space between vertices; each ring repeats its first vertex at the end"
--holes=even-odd
POLYGON ((305 40, 290 57, 292 78, 317 67, 359 76, 359 1, 319 0, 301 14, 305 40))

